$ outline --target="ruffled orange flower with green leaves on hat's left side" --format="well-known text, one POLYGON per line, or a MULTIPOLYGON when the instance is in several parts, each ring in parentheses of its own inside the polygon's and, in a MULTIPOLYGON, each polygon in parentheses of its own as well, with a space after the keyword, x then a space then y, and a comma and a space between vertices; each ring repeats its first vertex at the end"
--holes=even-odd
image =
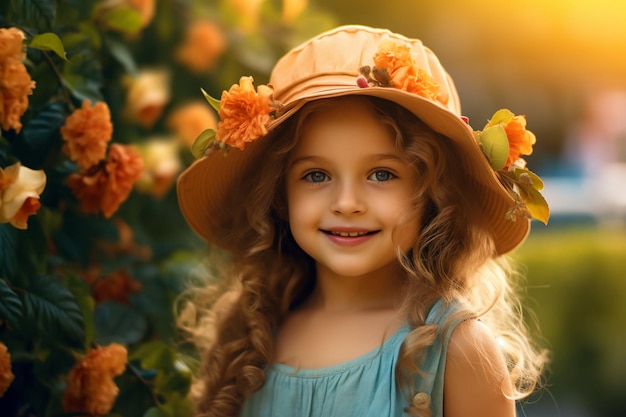
POLYGON ((207 129, 192 146, 194 156, 200 157, 213 148, 244 150, 248 143, 267 135, 268 125, 274 119, 279 104, 274 101, 274 89, 269 85, 254 88, 252 77, 241 77, 216 100, 202 90, 207 101, 217 110, 220 121, 217 131, 207 129))

